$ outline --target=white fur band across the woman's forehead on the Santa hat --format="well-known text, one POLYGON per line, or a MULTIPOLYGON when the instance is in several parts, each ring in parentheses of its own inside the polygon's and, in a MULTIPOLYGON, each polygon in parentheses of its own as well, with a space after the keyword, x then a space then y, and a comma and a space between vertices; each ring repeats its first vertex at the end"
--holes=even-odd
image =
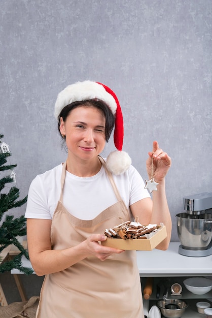
POLYGON ((112 113, 115 115, 117 104, 113 96, 108 93, 102 85, 93 81, 84 81, 68 85, 59 92, 54 109, 55 118, 59 119, 59 114, 65 106, 73 102, 92 99, 102 100, 110 107, 112 113))

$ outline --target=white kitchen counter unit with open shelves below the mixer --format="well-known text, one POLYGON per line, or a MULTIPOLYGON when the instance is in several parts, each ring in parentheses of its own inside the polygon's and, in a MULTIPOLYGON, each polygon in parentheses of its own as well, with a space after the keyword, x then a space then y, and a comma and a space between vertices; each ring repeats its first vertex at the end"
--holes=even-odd
MULTIPOLYGON (((189 307, 182 318, 202 318, 203 315, 197 312, 198 301, 208 301, 212 307, 212 291, 204 295, 190 293, 183 280, 193 276, 212 276, 212 255, 207 257, 187 257, 179 254, 179 242, 171 242, 166 251, 154 249, 152 251, 137 251, 137 265, 144 289, 146 277, 153 278, 153 293, 150 297, 149 308, 156 305, 158 299, 162 299, 164 288, 161 286, 160 296, 156 298, 156 286, 163 279, 168 279, 168 285, 178 282, 181 284, 182 296, 172 296, 169 288, 168 298, 184 299, 189 307)), ((211 277, 212 279, 212 277, 211 277)))

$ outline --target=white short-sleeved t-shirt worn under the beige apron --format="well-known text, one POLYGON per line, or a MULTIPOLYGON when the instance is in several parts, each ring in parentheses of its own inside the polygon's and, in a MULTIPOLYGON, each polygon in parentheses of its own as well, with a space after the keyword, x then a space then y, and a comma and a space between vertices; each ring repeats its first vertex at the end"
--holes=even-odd
MULTIPOLYGON (((52 219, 61 191, 62 164, 38 175, 31 182, 28 192, 26 218, 52 219)), ((150 197, 137 170, 130 168, 113 179, 127 207, 150 197)), ((115 204, 117 198, 103 166, 92 177, 78 177, 66 171, 63 187, 63 205, 75 217, 83 220, 95 218, 115 204)))

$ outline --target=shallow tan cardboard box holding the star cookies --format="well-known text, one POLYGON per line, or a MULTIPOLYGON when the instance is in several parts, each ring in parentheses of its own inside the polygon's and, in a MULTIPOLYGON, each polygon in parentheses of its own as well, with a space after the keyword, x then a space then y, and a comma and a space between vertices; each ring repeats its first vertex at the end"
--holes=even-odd
POLYGON ((167 237, 165 226, 157 226, 157 228, 157 231, 147 235, 147 239, 123 240, 116 238, 108 238, 106 241, 102 241, 101 245, 115 247, 124 250, 152 250, 167 237))

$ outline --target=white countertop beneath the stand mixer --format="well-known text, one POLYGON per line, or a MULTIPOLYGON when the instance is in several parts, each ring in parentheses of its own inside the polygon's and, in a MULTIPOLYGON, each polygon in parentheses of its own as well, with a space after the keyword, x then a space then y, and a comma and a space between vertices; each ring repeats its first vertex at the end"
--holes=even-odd
POLYGON ((212 255, 189 257, 178 252, 180 242, 171 242, 165 251, 137 251, 140 276, 212 275, 212 255))

